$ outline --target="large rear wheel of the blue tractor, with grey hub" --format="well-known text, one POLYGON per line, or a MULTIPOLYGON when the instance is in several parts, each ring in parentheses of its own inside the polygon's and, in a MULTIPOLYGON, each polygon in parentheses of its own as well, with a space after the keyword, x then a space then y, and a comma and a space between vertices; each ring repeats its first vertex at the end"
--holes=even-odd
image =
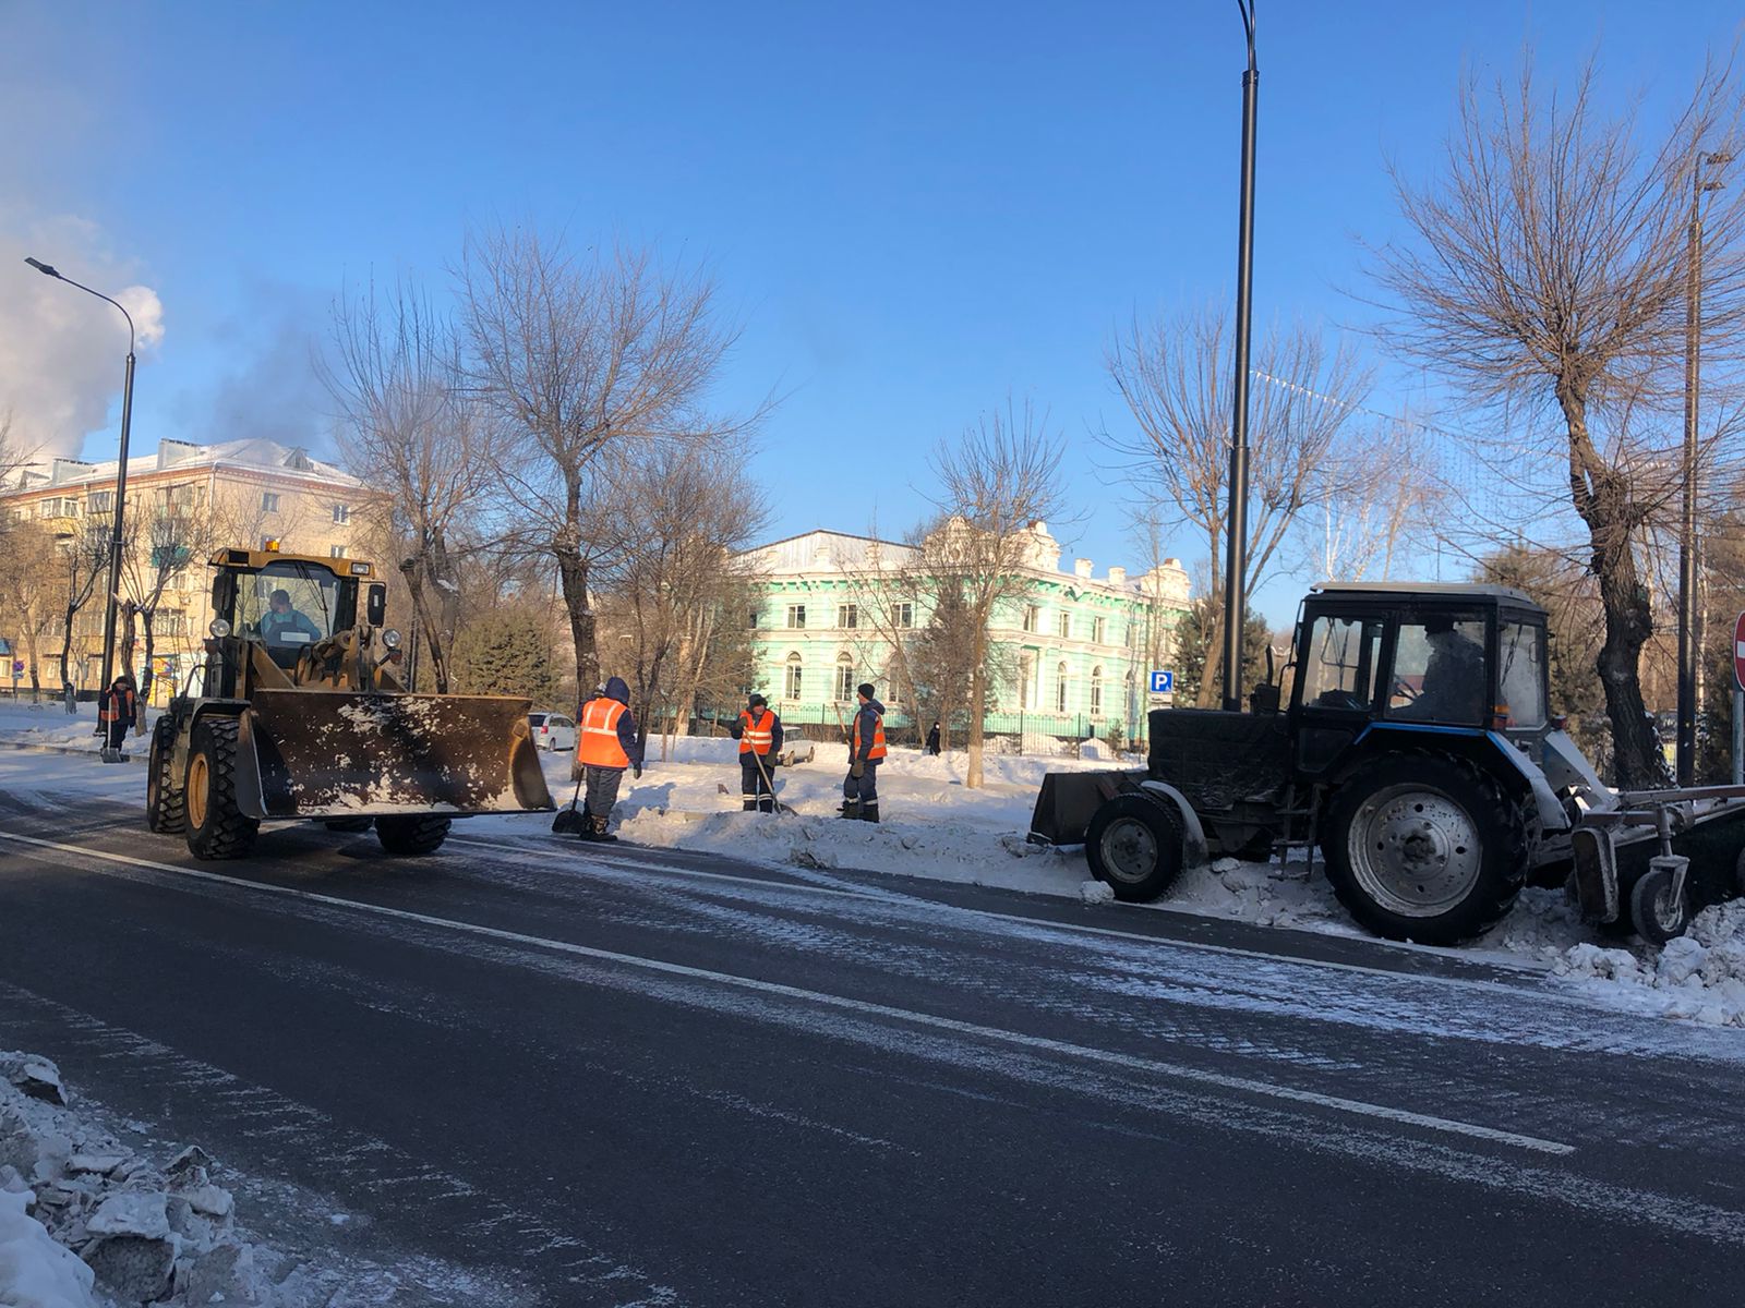
POLYGON ((1387 753, 1333 794, 1321 830, 1333 893, 1389 940, 1457 945, 1515 905, 1532 853, 1520 806, 1478 767, 1387 753))

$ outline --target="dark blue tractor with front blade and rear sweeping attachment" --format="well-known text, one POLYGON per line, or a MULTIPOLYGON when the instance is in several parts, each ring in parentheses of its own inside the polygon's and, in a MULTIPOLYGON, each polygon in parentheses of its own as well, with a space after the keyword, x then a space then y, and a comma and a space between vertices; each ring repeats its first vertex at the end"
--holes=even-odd
POLYGON ((1209 858, 1307 851, 1359 924, 1433 945, 1483 935, 1529 881, 1656 942, 1738 893, 1745 790, 1611 790, 1548 689, 1522 591, 1324 582, 1249 712, 1153 710, 1145 771, 1050 773, 1031 839, 1084 842, 1129 902, 1209 858))

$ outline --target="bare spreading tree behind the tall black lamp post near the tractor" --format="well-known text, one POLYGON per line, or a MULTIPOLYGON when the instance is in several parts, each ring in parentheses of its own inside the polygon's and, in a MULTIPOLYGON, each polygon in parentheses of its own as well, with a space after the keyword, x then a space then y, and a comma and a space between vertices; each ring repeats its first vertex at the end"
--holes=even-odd
MULTIPOLYGON (((1228 317, 1201 309, 1174 319, 1134 317, 1110 347, 1106 366, 1133 413, 1131 436, 1105 433, 1103 446, 1136 488, 1141 528, 1194 528, 1211 560, 1209 598, 1223 598, 1228 508, 1232 351, 1228 317)), ((1284 560, 1305 509, 1359 485, 1361 467, 1340 446, 1368 377, 1351 352, 1328 349, 1310 328, 1274 330, 1255 352, 1249 410, 1248 586, 1255 595, 1284 560)), ((1222 666, 1213 631, 1209 666, 1222 666)), ((1202 678, 1199 706, 1218 701, 1202 678)))

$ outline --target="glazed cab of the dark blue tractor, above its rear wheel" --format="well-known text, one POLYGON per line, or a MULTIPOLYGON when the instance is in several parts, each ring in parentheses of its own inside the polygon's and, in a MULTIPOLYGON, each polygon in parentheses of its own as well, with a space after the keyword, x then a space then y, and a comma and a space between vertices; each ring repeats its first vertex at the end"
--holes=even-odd
POLYGON ((1506 586, 1312 588, 1290 705, 1297 771, 1326 774, 1379 727, 1445 743, 1497 731, 1532 753, 1550 724, 1544 619, 1506 586))

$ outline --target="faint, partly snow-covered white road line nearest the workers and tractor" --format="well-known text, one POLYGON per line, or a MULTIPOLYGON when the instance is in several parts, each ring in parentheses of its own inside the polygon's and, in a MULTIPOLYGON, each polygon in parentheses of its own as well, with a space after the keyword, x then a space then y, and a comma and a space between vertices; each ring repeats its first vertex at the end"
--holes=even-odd
MULTIPOLYGON (((1405 971, 1401 968, 1379 968, 1379 966, 1373 966, 1370 963, 1340 963, 1337 959, 1304 957, 1302 954, 1274 954, 1274 952, 1265 950, 1265 949, 1242 949, 1241 945, 1213 945, 1213 944, 1206 944, 1202 940, 1178 940, 1176 937, 1167 937, 1167 935, 1146 935, 1143 931, 1120 931, 1120 930, 1117 930, 1113 926, 1091 926, 1087 923, 1061 923, 1061 921, 1056 921, 1052 917, 1026 917, 1024 914, 1019 914, 1019 912, 1000 912, 998 909, 977 909, 977 907, 972 907, 972 905, 967 905, 967 903, 946 903, 944 900, 930 900, 925 895, 914 895, 914 893, 909 893, 909 891, 902 891, 902 889, 857 889, 853 886, 843 886, 843 888, 838 888, 838 886, 818 886, 818 884, 806 882, 806 881, 766 881, 764 877, 743 877, 743 875, 733 875, 731 872, 703 872, 700 869, 672 867, 668 863, 644 863, 644 862, 637 862, 637 860, 626 858, 623 855, 604 856, 600 851, 593 851, 593 849, 590 849, 581 858, 576 858, 572 855, 564 855, 564 853, 553 853, 553 860, 536 862, 537 855, 539 855, 539 846, 537 844, 504 846, 504 844, 496 844, 492 841, 480 839, 476 835, 450 835, 448 837, 448 844, 466 844, 466 846, 471 846, 475 849, 490 849, 492 853, 496 853, 499 856, 501 855, 511 855, 511 856, 515 856, 517 867, 529 867, 529 869, 532 869, 536 872, 551 872, 553 869, 548 867, 548 862, 555 860, 555 862, 562 863, 569 870, 581 870, 581 872, 586 872, 590 869, 618 869, 618 870, 623 870, 623 872, 633 872, 635 877, 644 877, 649 872, 656 872, 656 874, 665 874, 665 875, 681 877, 681 879, 700 877, 703 881, 726 881, 726 882, 742 884, 742 886, 757 886, 759 889, 817 891, 818 895, 838 895, 838 896, 850 898, 850 900, 872 900, 876 903, 886 903, 886 905, 892 905, 892 907, 918 907, 920 905, 920 907, 934 909, 934 910, 939 910, 939 912, 944 912, 944 914, 965 914, 965 916, 972 916, 972 917, 991 917, 991 919, 1002 921, 1002 923, 1021 923, 1023 926, 1031 926, 1031 928, 1040 928, 1040 930, 1050 930, 1050 931, 1077 931, 1080 935, 1094 935, 1094 937, 1105 937, 1105 938, 1112 938, 1112 940, 1134 940, 1138 944, 1153 945, 1153 947, 1197 949, 1197 950, 1201 950, 1204 954, 1230 954, 1234 957, 1267 959, 1269 963, 1297 963, 1297 964, 1305 966, 1305 968, 1331 968, 1333 971, 1358 971, 1358 973, 1363 973, 1366 977, 1387 977, 1389 980, 1420 980, 1420 982, 1433 982, 1436 985, 1466 985, 1466 987, 1482 989, 1482 991, 1487 991, 1487 992, 1492 992, 1492 994, 1520 996, 1523 992, 1523 989, 1520 985, 1511 985, 1509 982, 1499 982, 1499 980, 1480 980, 1476 977, 1441 977, 1441 975, 1438 975, 1434 971, 1405 971)), ((630 877, 630 879, 635 879, 635 877, 630 877)), ((942 881, 942 882, 935 882, 935 884, 942 884, 942 886, 972 886, 975 882, 968 882, 968 881, 942 881)), ((982 886, 982 889, 988 889, 988 888, 982 886)), ((1071 900, 1066 900, 1064 896, 1054 896, 1054 898, 1059 898, 1064 903, 1071 903, 1071 900)), ((1145 905, 1119 905, 1119 907, 1122 907, 1122 909, 1133 909, 1133 910, 1146 910, 1145 905)), ((1208 917, 1204 914, 1192 912, 1190 909, 1171 909, 1169 905, 1159 905, 1159 907, 1152 909, 1152 912, 1159 912, 1159 910, 1160 912, 1167 912, 1171 917, 1185 917, 1185 919, 1194 919, 1194 921, 1201 921, 1201 923, 1218 921, 1215 917, 1208 917)), ((1326 937, 1326 938, 1330 938, 1330 940, 1351 940, 1351 937, 1326 937)), ((1394 945, 1382 945, 1380 942, 1365 942, 1365 944, 1373 944, 1377 949, 1394 949, 1394 945)), ((1417 950, 1401 950, 1401 952, 1412 954, 1412 952, 1417 952, 1417 950)), ((1436 957, 1436 956, 1433 956, 1433 957, 1436 957)), ((1495 968, 1497 971, 1515 971, 1515 973, 1520 973, 1522 978, 1525 978, 1525 980, 1541 980, 1541 978, 1546 977, 1546 971, 1543 968, 1530 968, 1530 966, 1520 966, 1520 964, 1509 964, 1509 963, 1492 963, 1490 959, 1487 959, 1480 966, 1495 968)), ((1569 1003, 1569 1005, 1581 1006, 1581 1008, 1588 1006, 1588 1005, 1583 1005, 1581 1001, 1572 999, 1569 996, 1560 996, 1560 994, 1551 994, 1551 992, 1541 992, 1541 991, 1534 991, 1534 998, 1536 999, 1555 999, 1558 1003, 1569 1003)))

